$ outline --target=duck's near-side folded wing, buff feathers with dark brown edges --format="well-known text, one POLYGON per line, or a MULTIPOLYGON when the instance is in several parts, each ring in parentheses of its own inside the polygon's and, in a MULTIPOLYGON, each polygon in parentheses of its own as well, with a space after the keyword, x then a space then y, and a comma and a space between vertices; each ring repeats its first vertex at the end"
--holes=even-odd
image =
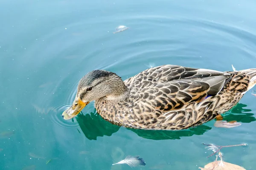
POLYGON ((191 102, 201 102, 209 95, 218 94, 228 79, 225 76, 207 78, 155 83, 151 88, 140 91, 140 96, 143 96, 144 102, 162 112, 181 109, 191 102))

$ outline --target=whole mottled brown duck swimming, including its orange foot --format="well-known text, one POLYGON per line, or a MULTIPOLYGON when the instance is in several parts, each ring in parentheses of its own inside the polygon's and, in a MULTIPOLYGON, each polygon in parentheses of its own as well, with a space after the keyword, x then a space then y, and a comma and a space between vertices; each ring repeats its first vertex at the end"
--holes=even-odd
MULTIPOLYGON (((136 129, 181 130, 221 119, 256 84, 256 69, 215 71, 161 65, 125 81, 113 72, 94 70, 79 81, 73 105, 62 113, 76 116, 95 100, 97 113, 112 124, 136 129)), ((236 127, 238 122, 223 126, 236 127)), ((218 122, 216 127, 221 127, 218 122)))

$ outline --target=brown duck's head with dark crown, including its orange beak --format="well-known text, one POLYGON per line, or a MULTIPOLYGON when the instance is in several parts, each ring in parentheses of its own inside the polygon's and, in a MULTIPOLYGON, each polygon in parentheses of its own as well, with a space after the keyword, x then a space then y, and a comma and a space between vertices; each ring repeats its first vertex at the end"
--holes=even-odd
POLYGON ((113 72, 94 70, 79 81, 76 98, 70 108, 62 113, 64 119, 75 117, 88 103, 106 97, 109 100, 126 98, 128 90, 121 77, 113 72))

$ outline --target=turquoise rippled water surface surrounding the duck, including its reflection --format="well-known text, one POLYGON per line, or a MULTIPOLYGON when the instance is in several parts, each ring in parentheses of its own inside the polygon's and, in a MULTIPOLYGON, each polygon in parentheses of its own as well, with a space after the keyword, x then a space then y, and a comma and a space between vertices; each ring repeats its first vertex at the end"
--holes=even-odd
MULTIPOLYGON (((224 160, 256 167, 256 97, 251 89, 224 119, 181 131, 130 130, 105 122, 90 103, 75 119, 70 106, 81 77, 94 69, 123 79, 173 64, 231 71, 256 68, 253 0, 0 1, 0 169, 130 170, 114 165, 142 157, 141 170, 197 170, 224 160), (129 29, 113 34, 119 25, 129 29), (47 163, 47 161, 51 161, 47 163)), ((255 89, 255 88, 254 88, 255 89)))

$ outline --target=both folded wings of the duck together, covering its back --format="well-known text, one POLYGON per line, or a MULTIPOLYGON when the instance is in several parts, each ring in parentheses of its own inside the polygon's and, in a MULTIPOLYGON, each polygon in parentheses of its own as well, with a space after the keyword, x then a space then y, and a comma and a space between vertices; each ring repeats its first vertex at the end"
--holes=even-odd
POLYGON ((220 71, 164 65, 141 72, 129 81, 139 105, 167 112, 218 94, 229 80, 230 74, 220 71))

